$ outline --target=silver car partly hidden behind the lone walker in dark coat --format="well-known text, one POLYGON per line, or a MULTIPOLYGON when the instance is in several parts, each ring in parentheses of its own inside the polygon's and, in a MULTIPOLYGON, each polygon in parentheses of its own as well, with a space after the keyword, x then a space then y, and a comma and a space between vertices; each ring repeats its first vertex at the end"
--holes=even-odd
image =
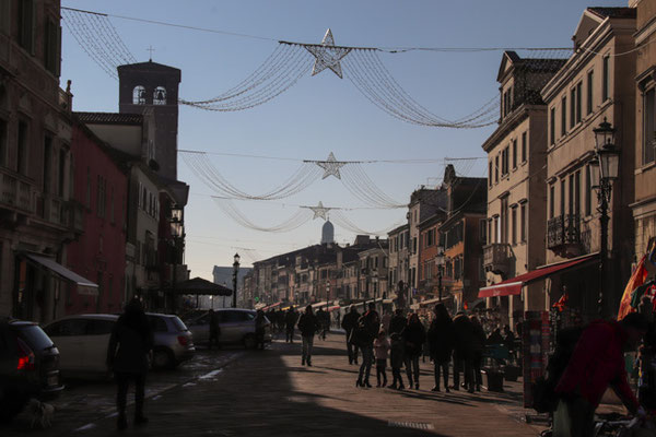
MULTIPOLYGON (((46 326, 61 351, 60 369, 68 376, 110 378, 107 347, 118 315, 91 314, 68 316, 46 326)), ((173 368, 196 352, 191 333, 177 316, 147 312, 153 330, 154 368, 173 368)))

